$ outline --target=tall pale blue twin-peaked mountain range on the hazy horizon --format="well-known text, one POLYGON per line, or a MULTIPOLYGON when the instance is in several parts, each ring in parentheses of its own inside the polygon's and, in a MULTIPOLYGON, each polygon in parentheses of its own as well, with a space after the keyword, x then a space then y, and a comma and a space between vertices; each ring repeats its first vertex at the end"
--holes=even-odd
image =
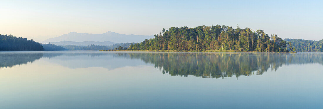
POLYGON ((144 36, 144 35, 126 35, 119 34, 112 31, 108 31, 103 34, 91 34, 91 33, 77 33, 70 32, 56 38, 49 38, 40 43, 46 44, 49 42, 60 42, 60 41, 74 41, 74 42, 84 42, 84 41, 110 41, 114 43, 129 43, 129 42, 141 42, 145 39, 154 38, 154 36, 144 36))

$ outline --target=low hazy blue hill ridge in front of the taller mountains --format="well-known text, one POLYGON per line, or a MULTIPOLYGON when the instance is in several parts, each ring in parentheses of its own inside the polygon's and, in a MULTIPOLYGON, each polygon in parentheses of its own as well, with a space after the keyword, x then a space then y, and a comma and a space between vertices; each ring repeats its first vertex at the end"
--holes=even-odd
POLYGON ((59 42, 50 42, 50 44, 55 44, 58 46, 67 46, 67 45, 76 45, 76 46, 88 46, 88 45, 101 45, 101 46, 112 46, 116 44, 110 41, 98 42, 98 41, 83 41, 83 42, 74 42, 74 41, 59 41, 59 42))

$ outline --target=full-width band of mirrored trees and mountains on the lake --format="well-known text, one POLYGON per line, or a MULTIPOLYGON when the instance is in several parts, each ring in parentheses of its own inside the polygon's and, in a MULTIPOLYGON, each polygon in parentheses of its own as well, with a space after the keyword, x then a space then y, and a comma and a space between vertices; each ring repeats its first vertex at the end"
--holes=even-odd
POLYGON ((267 70, 276 71, 282 65, 323 64, 322 53, 21 52, 0 54, 0 68, 12 68, 38 59, 48 59, 46 61, 71 69, 115 69, 140 66, 145 62, 163 74, 202 78, 238 78, 241 75, 262 75, 267 70))

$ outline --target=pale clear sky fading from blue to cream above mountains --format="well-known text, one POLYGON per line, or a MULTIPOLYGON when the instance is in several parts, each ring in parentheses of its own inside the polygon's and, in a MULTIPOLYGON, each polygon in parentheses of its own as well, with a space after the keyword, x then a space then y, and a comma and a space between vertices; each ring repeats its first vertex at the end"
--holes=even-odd
POLYGON ((322 1, 0 0, 0 34, 35 41, 69 32, 152 35, 172 26, 227 25, 281 38, 323 39, 322 1))

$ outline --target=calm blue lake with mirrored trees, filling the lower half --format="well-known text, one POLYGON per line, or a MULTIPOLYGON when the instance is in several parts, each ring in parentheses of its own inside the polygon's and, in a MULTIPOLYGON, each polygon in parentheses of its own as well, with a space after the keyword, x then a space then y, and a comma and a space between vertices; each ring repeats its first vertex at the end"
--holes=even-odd
POLYGON ((323 53, 0 52, 1 109, 323 107, 323 53))

